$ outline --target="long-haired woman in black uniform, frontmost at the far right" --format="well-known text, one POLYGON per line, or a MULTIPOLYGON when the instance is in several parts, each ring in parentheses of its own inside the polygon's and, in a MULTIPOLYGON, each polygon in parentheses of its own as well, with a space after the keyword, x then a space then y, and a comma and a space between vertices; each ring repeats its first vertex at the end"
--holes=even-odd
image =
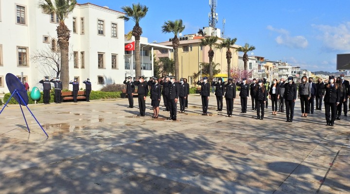
POLYGON ((324 84, 326 94, 323 101, 325 105, 326 122, 327 126, 333 126, 336 118, 336 109, 340 102, 340 92, 338 85, 335 84, 334 76, 329 76, 328 82, 324 84))

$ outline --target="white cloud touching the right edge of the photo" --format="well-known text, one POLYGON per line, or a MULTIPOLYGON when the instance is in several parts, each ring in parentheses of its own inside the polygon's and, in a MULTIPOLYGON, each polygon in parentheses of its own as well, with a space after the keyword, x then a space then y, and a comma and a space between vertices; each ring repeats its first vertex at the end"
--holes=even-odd
POLYGON ((350 22, 338 26, 313 24, 312 27, 322 32, 317 38, 323 42, 325 47, 333 50, 350 50, 350 22))

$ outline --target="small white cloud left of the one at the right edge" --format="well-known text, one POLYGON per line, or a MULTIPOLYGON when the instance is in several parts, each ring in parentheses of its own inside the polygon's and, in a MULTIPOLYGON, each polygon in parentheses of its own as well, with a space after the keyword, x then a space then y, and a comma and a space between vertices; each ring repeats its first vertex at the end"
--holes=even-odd
POLYGON ((267 26, 267 29, 273 32, 280 33, 276 37, 276 42, 279 45, 285 45, 289 48, 300 49, 306 48, 309 45, 309 42, 304 36, 291 36, 290 33, 285 29, 276 29, 270 25, 267 26))

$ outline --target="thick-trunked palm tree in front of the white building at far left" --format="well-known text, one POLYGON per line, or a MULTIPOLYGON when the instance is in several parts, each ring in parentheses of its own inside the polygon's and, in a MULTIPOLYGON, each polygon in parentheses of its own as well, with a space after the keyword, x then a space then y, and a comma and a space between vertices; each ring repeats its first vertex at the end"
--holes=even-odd
POLYGON ((44 0, 39 3, 39 8, 45 14, 56 14, 60 23, 57 26, 57 38, 58 45, 61 51, 61 81, 63 89, 68 89, 69 86, 69 39, 70 30, 66 26, 64 20, 70 14, 75 4, 76 0, 44 0), (54 3, 53 3, 54 2, 54 3))

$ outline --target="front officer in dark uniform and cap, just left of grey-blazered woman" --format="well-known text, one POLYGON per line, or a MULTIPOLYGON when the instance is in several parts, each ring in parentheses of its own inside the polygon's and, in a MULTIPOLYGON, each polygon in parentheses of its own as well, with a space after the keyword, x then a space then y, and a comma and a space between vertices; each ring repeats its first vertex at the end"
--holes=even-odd
POLYGON ((289 76, 286 83, 281 88, 284 88, 284 102, 286 106, 286 122, 293 122, 294 106, 297 100, 297 84, 294 83, 293 77, 289 76))

